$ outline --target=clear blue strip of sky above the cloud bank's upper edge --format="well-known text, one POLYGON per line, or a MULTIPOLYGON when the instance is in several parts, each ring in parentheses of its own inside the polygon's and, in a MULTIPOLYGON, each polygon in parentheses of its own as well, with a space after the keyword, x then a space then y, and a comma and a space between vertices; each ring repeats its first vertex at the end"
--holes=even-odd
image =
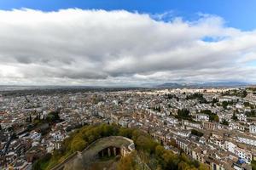
POLYGON ((161 14, 172 11, 184 20, 195 20, 198 13, 216 14, 227 26, 243 31, 256 28, 254 0, 0 0, 0 9, 32 8, 44 11, 60 8, 125 9, 131 12, 161 14))

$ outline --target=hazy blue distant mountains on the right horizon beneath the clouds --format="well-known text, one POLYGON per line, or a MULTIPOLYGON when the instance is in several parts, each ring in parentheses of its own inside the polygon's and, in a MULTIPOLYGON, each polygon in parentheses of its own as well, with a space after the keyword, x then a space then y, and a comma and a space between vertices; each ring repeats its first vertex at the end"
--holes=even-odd
POLYGON ((202 82, 202 83, 188 83, 188 82, 166 82, 163 84, 154 85, 153 88, 241 88, 253 85, 248 82, 202 82))

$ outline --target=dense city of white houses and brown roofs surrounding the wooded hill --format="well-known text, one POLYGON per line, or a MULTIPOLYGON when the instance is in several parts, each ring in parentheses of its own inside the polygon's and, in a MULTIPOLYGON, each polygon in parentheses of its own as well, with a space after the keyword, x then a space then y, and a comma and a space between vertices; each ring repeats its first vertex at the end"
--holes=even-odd
POLYGON ((256 87, 3 91, 1 167, 29 169, 74 129, 137 128, 212 169, 252 169, 256 87), (79 92, 80 91, 80 92, 79 92))

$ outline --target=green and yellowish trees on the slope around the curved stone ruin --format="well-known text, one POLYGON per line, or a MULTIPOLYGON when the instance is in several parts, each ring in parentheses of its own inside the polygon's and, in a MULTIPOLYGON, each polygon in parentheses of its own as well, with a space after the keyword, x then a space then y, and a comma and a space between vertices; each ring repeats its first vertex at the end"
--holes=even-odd
POLYGON ((175 155, 171 150, 165 150, 148 133, 138 129, 123 128, 116 125, 102 124, 99 126, 85 126, 76 130, 65 139, 61 150, 55 150, 53 155, 46 155, 36 161, 32 168, 37 170, 51 169, 64 161, 76 151, 84 150, 89 144, 108 136, 124 136, 134 141, 136 150, 129 156, 118 161, 118 170, 132 169, 207 169, 203 164, 190 160, 184 154, 175 155))

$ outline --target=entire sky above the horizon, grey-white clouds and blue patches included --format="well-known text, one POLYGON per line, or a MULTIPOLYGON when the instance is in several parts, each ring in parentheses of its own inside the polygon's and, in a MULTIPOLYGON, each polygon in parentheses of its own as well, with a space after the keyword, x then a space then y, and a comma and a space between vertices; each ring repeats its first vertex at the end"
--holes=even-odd
POLYGON ((256 1, 0 0, 0 84, 256 82, 256 1))

